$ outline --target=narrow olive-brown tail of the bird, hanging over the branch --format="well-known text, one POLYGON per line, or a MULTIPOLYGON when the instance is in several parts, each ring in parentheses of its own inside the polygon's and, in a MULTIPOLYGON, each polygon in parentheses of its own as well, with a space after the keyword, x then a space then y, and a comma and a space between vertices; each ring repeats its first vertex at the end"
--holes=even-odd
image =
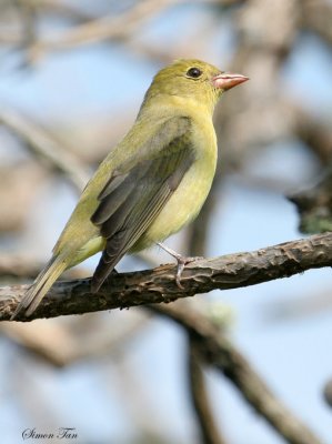
POLYGON ((43 296, 67 268, 68 258, 63 256, 62 254, 54 255, 48 262, 46 268, 39 273, 33 284, 24 294, 22 301, 19 303, 14 313, 12 314, 11 321, 14 320, 21 312, 24 312, 26 316, 30 316, 38 307, 43 296))

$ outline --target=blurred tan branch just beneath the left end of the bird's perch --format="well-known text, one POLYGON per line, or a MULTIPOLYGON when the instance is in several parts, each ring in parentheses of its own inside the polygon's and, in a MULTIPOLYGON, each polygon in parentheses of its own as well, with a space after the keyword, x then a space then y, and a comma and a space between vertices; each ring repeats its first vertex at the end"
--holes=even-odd
POLYGON ((85 319, 84 323, 82 319, 71 320, 70 323, 40 321, 31 324, 30 329, 19 323, 3 324, 0 332, 24 347, 26 352, 42 357, 48 364, 63 367, 125 349, 125 344, 149 325, 149 317, 142 311, 134 311, 124 324, 113 320, 117 329, 111 335, 105 329, 108 321, 95 316, 85 319))

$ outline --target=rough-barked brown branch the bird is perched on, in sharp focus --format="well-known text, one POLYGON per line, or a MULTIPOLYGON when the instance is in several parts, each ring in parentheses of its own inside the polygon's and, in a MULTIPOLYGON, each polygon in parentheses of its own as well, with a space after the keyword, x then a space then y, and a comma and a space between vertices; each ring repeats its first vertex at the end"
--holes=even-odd
MULTIPOLYGON (((21 316, 19 320, 171 302, 197 293, 254 285, 331 265, 332 233, 318 234, 249 253, 193 262, 183 272, 183 289, 175 284, 173 265, 134 273, 114 273, 93 295, 89 279, 59 282, 31 317, 21 316)), ((0 321, 10 319, 26 290, 26 285, 0 289, 0 321)))

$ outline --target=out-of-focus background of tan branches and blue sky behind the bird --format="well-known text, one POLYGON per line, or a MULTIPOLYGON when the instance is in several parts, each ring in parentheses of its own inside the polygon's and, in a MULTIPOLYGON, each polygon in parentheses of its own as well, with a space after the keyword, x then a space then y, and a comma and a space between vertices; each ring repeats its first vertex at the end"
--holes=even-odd
MULTIPOLYGON (((217 256, 300 238, 300 225, 332 230, 331 1, 1 0, 0 46, 1 284, 36 276, 151 78, 178 58, 251 80, 215 111, 220 164, 204 210, 167 244, 217 256), (298 206, 286 199, 294 194, 298 206)), ((91 275, 97 261, 68 278, 91 275)), ((165 262, 152 249, 118 271, 165 262)), ((221 334, 325 443, 331 285, 331 270, 311 270, 190 301, 218 312, 221 334)), ((20 443, 34 427, 74 427, 83 444, 208 442, 190 395, 187 336, 171 321, 131 309, 0 329, 2 442, 20 443)), ((284 442, 222 375, 204 367, 204 381, 214 443, 284 442)))

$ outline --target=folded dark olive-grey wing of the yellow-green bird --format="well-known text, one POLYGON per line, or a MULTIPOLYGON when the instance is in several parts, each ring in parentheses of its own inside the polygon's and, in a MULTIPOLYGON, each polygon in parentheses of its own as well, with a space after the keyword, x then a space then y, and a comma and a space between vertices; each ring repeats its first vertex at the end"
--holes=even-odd
POLYGON ((189 119, 178 119, 178 124, 170 119, 161 130, 142 148, 143 159, 119 165, 99 195, 91 221, 107 243, 93 275, 94 292, 148 230, 194 161, 189 119))

